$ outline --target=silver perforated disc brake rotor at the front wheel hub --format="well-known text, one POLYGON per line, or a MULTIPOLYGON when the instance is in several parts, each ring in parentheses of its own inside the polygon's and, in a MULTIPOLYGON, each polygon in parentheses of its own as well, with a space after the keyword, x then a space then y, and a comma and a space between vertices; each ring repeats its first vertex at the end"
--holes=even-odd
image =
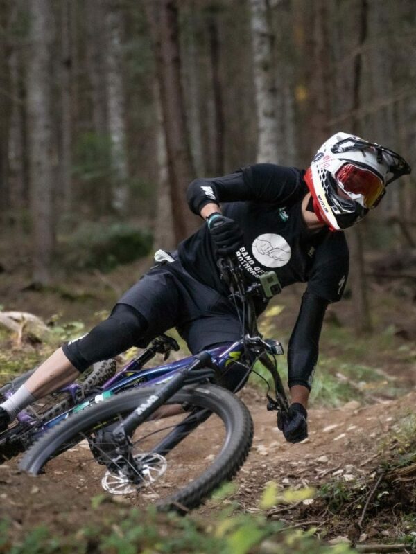
POLYGON ((132 494, 143 487, 153 485, 166 472, 166 459, 160 454, 154 452, 136 454, 133 458, 139 468, 137 474, 140 483, 132 483, 122 471, 116 473, 107 471, 101 479, 101 486, 105 491, 110 494, 132 494))

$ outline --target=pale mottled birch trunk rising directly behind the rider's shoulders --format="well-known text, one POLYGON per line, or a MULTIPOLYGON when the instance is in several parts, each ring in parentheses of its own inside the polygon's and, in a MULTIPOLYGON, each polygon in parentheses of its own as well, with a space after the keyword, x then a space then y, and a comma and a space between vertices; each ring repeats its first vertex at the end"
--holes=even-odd
POLYGON ((257 162, 277 163, 281 155, 281 100, 273 64, 274 36, 270 29, 268 0, 250 0, 254 58, 254 84, 258 121, 257 162))

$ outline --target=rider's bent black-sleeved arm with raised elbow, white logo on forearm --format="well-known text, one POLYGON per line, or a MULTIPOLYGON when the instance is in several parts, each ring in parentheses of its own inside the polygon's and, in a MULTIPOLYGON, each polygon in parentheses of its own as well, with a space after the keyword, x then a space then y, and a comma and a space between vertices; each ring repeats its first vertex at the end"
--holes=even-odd
POLYGON ((192 181, 187 190, 187 202, 197 215, 202 215, 202 209, 207 205, 219 206, 220 202, 239 200, 284 206, 306 193, 302 175, 296 168, 257 163, 223 177, 192 181))

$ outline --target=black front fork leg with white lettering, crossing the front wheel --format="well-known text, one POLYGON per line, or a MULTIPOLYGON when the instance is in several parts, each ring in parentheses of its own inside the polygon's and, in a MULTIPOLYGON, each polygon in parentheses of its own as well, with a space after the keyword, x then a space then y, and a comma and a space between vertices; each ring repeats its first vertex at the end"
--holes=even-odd
POLYGON ((148 397, 145 402, 142 402, 140 406, 137 406, 135 411, 130 413, 128 418, 125 418, 120 425, 117 425, 112 434, 116 443, 120 446, 128 443, 128 437, 132 435, 135 429, 182 388, 184 381, 191 371, 206 366, 213 367, 211 355, 208 352, 200 352, 189 366, 178 370, 172 379, 165 385, 157 388, 157 391, 153 395, 148 397))

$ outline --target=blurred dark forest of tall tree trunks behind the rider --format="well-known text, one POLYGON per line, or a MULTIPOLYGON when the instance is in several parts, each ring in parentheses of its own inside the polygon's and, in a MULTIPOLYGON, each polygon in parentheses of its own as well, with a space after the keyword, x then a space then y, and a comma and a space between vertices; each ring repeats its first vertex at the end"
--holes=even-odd
MULTIPOLYGON (((415 166, 415 0, 1 0, 0 26, 0 271, 37 285, 173 248, 193 178, 334 132, 415 166)), ((358 328, 369 272, 416 281, 414 179, 347 233, 358 328)))

